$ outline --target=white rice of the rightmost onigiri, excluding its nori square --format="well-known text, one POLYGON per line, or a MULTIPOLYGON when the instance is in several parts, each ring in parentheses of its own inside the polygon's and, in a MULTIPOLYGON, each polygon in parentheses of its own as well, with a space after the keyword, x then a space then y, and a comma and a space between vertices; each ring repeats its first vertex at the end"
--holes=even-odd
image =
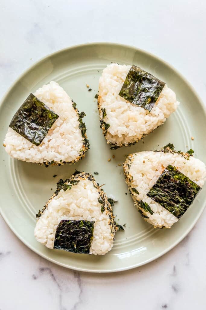
POLYGON ((144 151, 130 154, 124 163, 126 183, 130 189, 136 188, 139 192, 139 194, 131 192, 135 205, 138 207, 139 200, 148 203, 154 212, 153 215, 145 210, 141 211, 149 217, 145 220, 158 228, 170 228, 178 221, 178 218, 146 195, 169 164, 203 187, 206 179, 205 164, 192 156, 186 160, 178 153, 144 151))

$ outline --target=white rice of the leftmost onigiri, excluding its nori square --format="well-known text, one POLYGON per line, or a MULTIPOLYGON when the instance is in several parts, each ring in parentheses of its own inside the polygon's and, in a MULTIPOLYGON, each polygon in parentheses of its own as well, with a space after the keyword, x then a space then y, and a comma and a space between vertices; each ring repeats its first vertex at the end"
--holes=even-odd
POLYGON ((59 118, 39 146, 9 127, 4 140, 6 152, 13 158, 35 163, 71 163, 84 157, 86 150, 78 127, 78 114, 63 88, 52 81, 39 88, 34 95, 56 112, 59 118))

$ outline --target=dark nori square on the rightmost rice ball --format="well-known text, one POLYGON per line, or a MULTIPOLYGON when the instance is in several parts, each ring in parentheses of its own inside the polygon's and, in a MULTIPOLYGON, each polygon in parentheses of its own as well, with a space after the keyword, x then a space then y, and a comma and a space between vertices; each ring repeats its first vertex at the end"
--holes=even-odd
POLYGON ((147 196, 178 219, 191 205, 201 187, 175 167, 168 165, 147 196))

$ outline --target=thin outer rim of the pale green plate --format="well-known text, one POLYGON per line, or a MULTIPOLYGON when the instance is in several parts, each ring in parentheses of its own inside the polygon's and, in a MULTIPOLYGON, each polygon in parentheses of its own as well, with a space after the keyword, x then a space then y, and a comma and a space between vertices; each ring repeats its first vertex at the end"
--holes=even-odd
MULTIPOLYGON (((10 91, 12 90, 12 88, 14 88, 16 86, 16 84, 19 82, 19 80, 21 78, 23 78, 24 75, 26 75, 29 71, 31 71, 32 69, 34 69, 36 67, 36 65, 39 65, 41 62, 43 62, 44 60, 46 60, 49 57, 55 56, 58 53, 62 53, 64 51, 68 51, 71 49, 75 49, 75 48, 81 48, 81 47, 85 47, 85 46, 92 46, 92 45, 116 45, 118 47, 123 47, 126 49, 133 49, 134 51, 139 51, 141 53, 144 53, 145 55, 151 56, 157 60, 159 60, 160 62, 162 62, 163 64, 165 64, 166 66, 168 66, 170 69, 172 69, 187 85, 187 87, 189 87, 191 89, 191 91, 193 92, 193 94, 196 96, 196 98, 199 100, 200 105, 204 111, 204 114, 206 116, 206 107, 204 105, 203 100, 201 99, 201 97, 198 95, 198 93, 196 92, 195 88, 191 85, 190 82, 187 81, 187 79, 182 75, 182 73, 180 73, 173 65, 169 64, 168 62, 166 62, 165 60, 163 60, 162 58, 154 55, 153 53, 150 53, 148 51, 145 51, 144 49, 135 47, 133 45, 128 45, 128 44, 122 44, 122 43, 116 43, 116 42, 88 42, 88 43, 82 43, 82 44, 77 44, 77 45, 72 45, 70 47, 65 47, 63 49, 59 49, 53 53, 47 54, 44 57, 41 57, 39 60, 35 61, 34 64, 32 64, 31 66, 29 66, 26 70, 24 70, 16 79, 13 83, 11 83, 11 86, 7 89, 7 91, 5 92, 5 94, 3 95, 3 97, 0 100, 0 108, 3 104, 3 102, 5 101, 6 97, 9 95, 10 91)), ((177 244, 179 242, 181 242, 186 236, 187 234, 192 230, 192 228, 195 226, 195 224, 197 223, 198 219, 200 218, 200 216, 202 215, 204 209, 205 209, 205 203, 206 203, 206 198, 204 198, 204 207, 202 208, 199 217, 192 222, 192 224, 187 228, 187 230, 183 233, 183 235, 181 237, 179 237, 177 239, 177 241, 175 241, 171 246, 169 246, 168 248, 166 248, 165 250, 161 251, 160 253, 158 253, 157 255, 153 256, 150 259, 146 259, 145 261, 141 262, 141 263, 136 263, 133 264, 131 266, 127 266, 127 267, 120 267, 120 268, 116 268, 116 269, 104 269, 104 270, 99 270, 99 269, 85 269, 85 268, 80 268, 80 267, 75 267, 75 266, 71 266, 69 264, 64 264, 61 263, 59 261, 57 261, 56 259, 50 258, 47 255, 44 255, 43 253, 41 253, 40 251, 38 251, 37 249, 35 249, 32 245, 30 245, 27 241, 25 241, 23 239, 23 237, 21 237, 19 235, 19 233, 15 230, 15 228, 12 227, 12 225, 9 222, 9 219, 7 218, 7 216, 4 214, 4 212, 1 210, 0 208, 0 214, 3 218, 3 220, 5 221, 5 223, 8 225, 8 227, 11 229, 11 231, 15 234, 16 237, 19 238, 19 240, 21 242, 23 242, 23 244, 25 244, 30 250, 32 250, 33 252, 35 252, 36 254, 40 255, 41 257, 43 257, 44 259, 47 259, 48 261, 55 263, 59 266, 65 267, 65 268, 69 268, 72 270, 76 270, 76 271, 81 271, 81 272, 91 272, 91 273, 111 273, 111 272, 120 272, 120 271, 125 271, 125 270, 130 270, 133 268, 137 268, 140 267, 142 265, 145 265, 147 263, 152 262, 155 259, 158 259, 159 257, 163 256, 164 254, 166 254, 167 252, 169 252, 171 249, 173 249, 175 246, 177 246, 177 244)))

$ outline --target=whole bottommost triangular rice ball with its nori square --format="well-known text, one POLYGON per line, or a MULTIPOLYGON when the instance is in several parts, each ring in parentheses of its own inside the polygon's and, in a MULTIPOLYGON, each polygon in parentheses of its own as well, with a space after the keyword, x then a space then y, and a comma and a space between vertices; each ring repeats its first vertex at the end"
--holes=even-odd
POLYGON ((34 235, 48 248, 104 255, 111 250, 115 232, 113 200, 89 173, 76 171, 60 180, 57 190, 36 215, 34 235))

